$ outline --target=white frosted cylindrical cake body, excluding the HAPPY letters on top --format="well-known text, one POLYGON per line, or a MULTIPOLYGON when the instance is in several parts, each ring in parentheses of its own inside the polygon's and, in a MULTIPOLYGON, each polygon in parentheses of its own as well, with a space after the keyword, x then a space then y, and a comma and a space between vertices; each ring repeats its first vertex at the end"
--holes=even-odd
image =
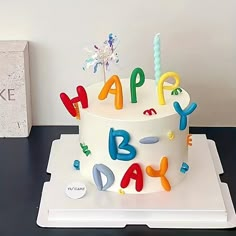
MULTIPOLYGON (((184 90, 178 95, 165 91, 166 105, 158 105, 155 81, 145 80, 137 88, 137 103, 131 103, 129 79, 122 79, 121 84, 124 100, 121 110, 115 109, 113 94, 103 101, 98 99, 103 82, 86 88, 89 107, 80 109, 79 121, 83 147, 79 156, 81 174, 94 183, 94 166, 102 164, 103 169, 104 165, 109 168, 108 178, 112 177, 111 172, 114 177, 108 191, 141 194, 168 191, 183 179, 180 169, 188 157, 188 124, 184 130, 179 129, 180 115, 173 102, 184 109, 190 97, 184 90), (144 112, 150 109, 152 115, 144 112), (124 141, 123 136, 129 140, 124 141), (129 168, 133 168, 130 170, 133 174, 125 174, 129 168)), ((101 176, 104 186, 106 178, 101 176)))

